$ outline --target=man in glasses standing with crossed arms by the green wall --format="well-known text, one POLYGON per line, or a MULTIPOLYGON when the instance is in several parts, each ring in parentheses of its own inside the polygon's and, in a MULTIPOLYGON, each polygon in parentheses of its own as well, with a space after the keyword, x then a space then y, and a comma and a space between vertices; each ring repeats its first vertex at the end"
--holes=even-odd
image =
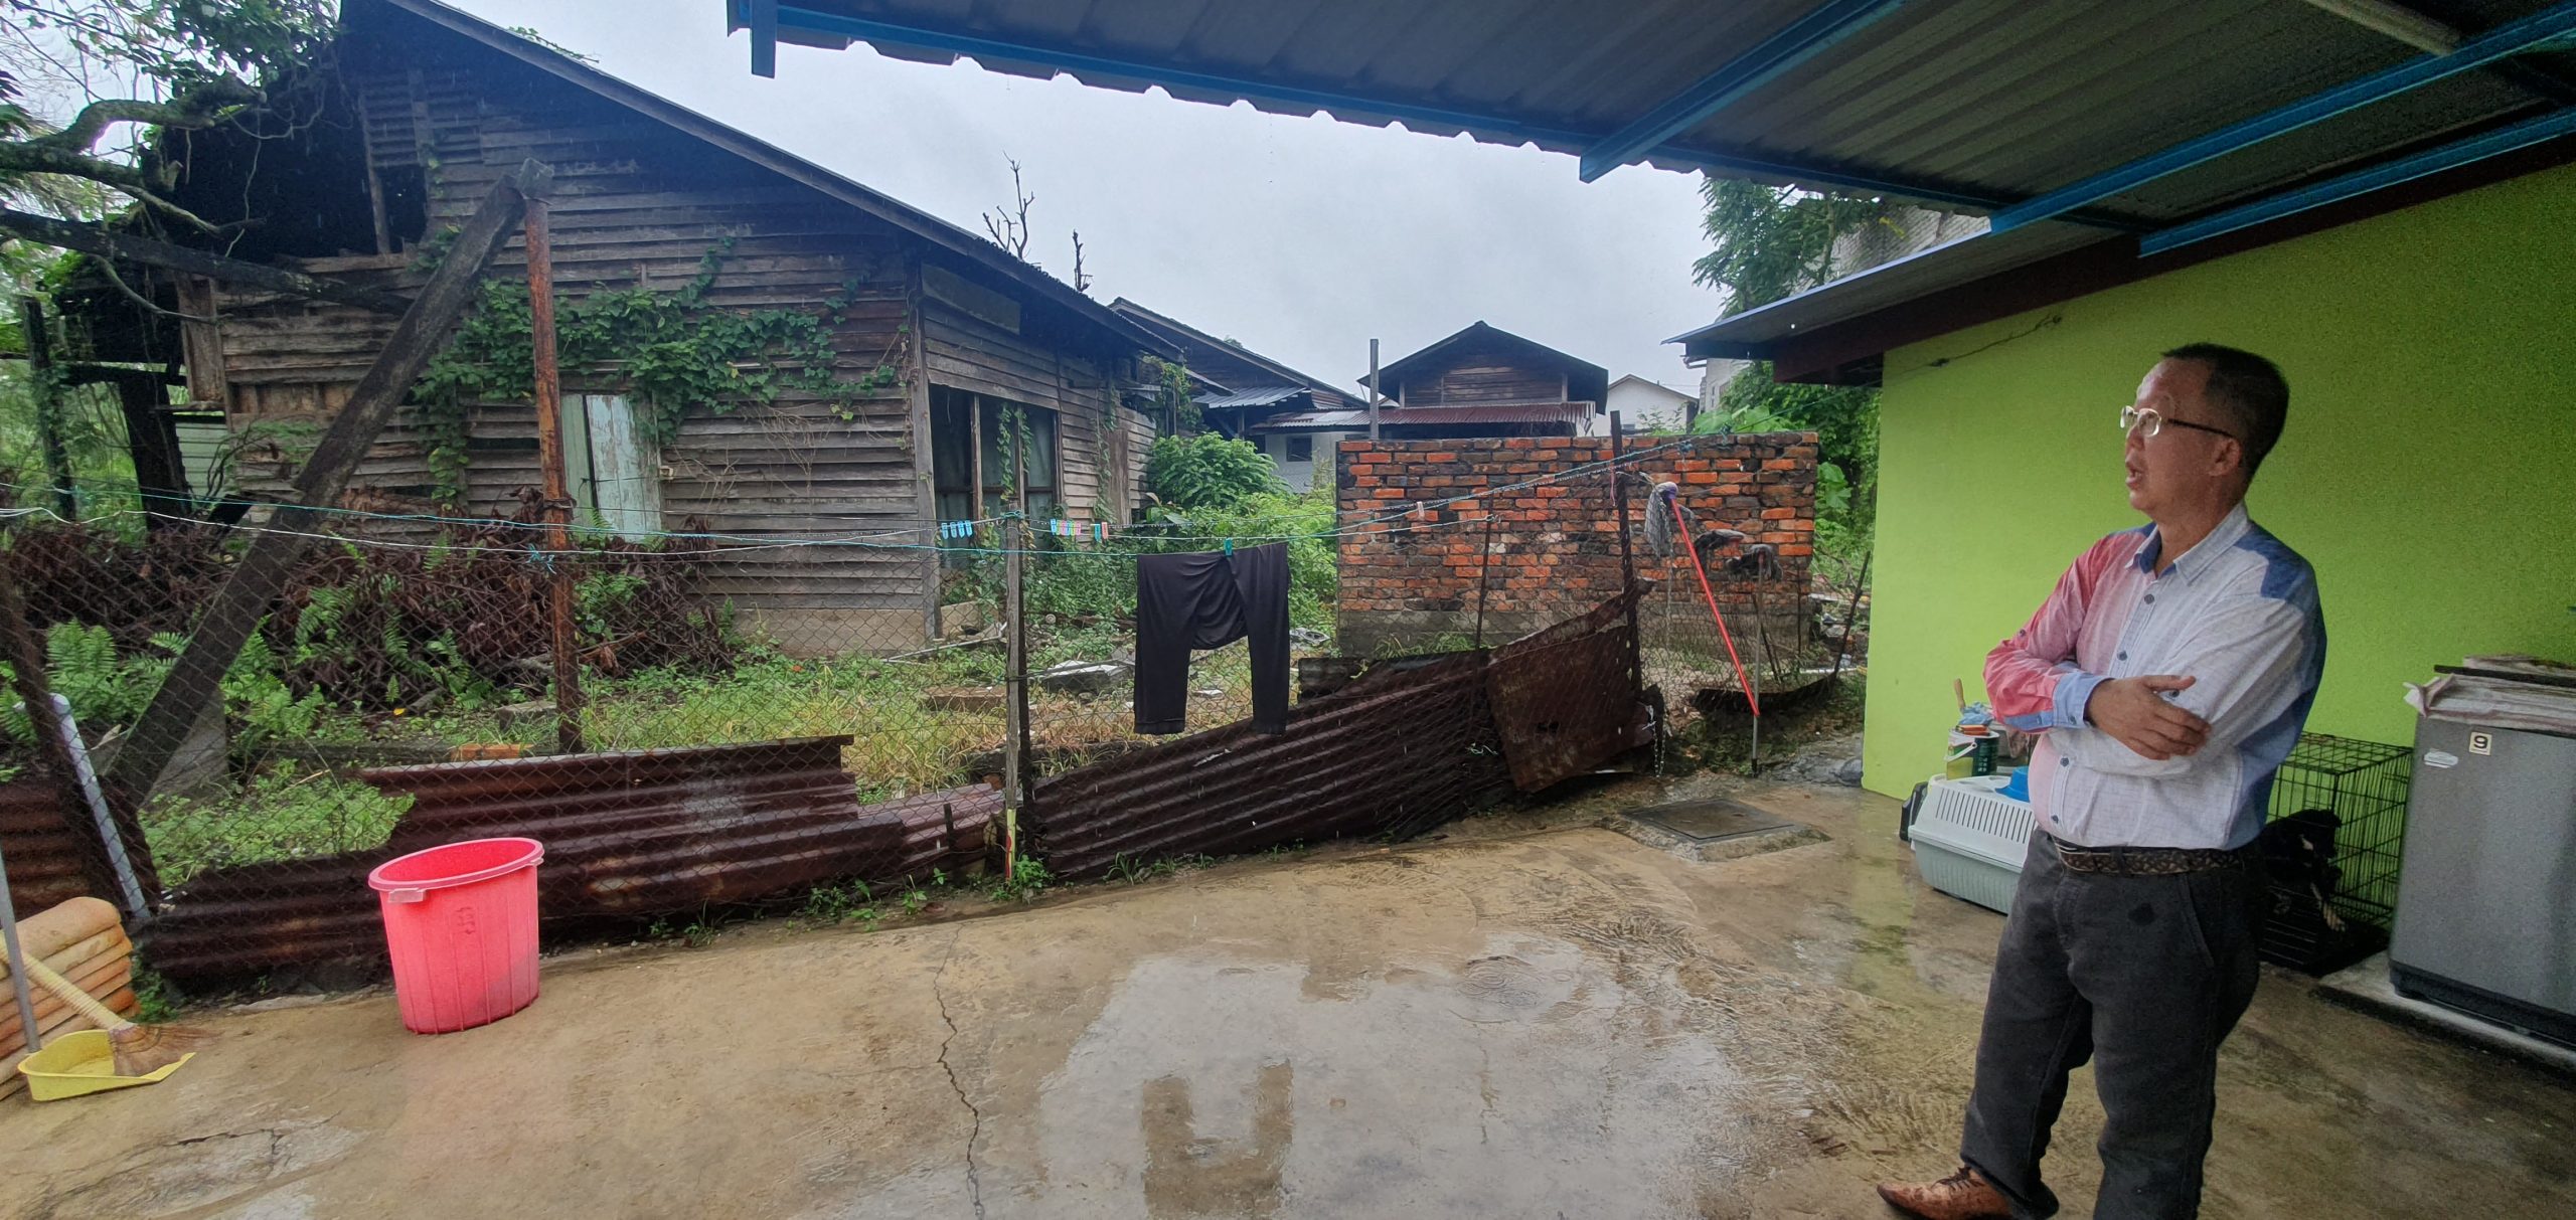
POLYGON ((2316 577, 2246 520, 2290 386, 2259 355, 2164 353, 2120 409, 2128 502, 2151 525, 2092 546, 1986 656, 2004 723, 2040 734, 2040 829, 1996 947, 1958 1174, 1878 1194, 1927 1220, 2045 1217, 2066 1073, 2094 1060, 2094 1217, 2190 1217, 2218 1042, 2254 999, 2254 836, 2316 698, 2316 577))

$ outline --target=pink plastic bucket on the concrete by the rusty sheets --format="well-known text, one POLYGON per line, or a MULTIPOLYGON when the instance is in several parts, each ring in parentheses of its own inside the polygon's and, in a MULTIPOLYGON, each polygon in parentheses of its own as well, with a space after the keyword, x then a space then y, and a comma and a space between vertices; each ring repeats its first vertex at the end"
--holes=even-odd
POLYGON ((469 839, 376 865, 394 1001, 415 1035, 492 1024, 536 1001, 536 839, 469 839))

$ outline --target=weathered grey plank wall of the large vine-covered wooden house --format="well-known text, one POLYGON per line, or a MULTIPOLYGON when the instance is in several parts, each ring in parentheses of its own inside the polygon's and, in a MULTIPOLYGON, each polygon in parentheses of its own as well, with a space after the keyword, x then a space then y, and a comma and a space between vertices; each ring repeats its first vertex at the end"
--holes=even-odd
MULTIPOLYGON (((1069 335, 1061 306, 1005 301, 1002 311, 1025 314, 1025 327, 1002 327, 922 291, 935 270, 951 286, 971 281, 956 288, 969 299, 1025 299, 1028 288, 1007 275, 482 46, 361 39, 343 46, 343 72, 361 116, 348 139, 366 142, 386 196, 425 198, 425 226, 399 232, 392 208, 386 237, 410 252, 307 260, 309 270, 397 291, 415 286, 420 242, 461 221, 495 178, 536 157, 554 167, 554 278, 567 304, 595 291, 680 288, 719 245, 708 306, 822 311, 827 301, 848 301, 832 335, 835 373, 855 384, 884 365, 894 378, 850 396, 781 386, 773 402, 685 404, 677 432, 654 456, 665 528, 752 541, 925 528, 930 384, 1059 412, 1064 512, 1131 515, 1151 427, 1115 404, 1110 368, 1092 355, 1100 337, 1079 324, 1069 335), (1103 427, 1121 414, 1128 427, 1103 427)), ((523 252, 502 252, 492 273, 523 275, 523 252)), ((204 376, 191 368, 193 386, 201 399, 224 402, 234 432, 258 425, 281 432, 278 450, 252 445, 234 471, 240 492, 281 494, 294 476, 294 425, 319 427, 345 402, 392 319, 276 296, 209 293, 206 304, 216 322, 191 324, 185 342, 191 355, 222 353, 222 363, 204 376)), ((567 368, 564 391, 618 386, 613 376, 567 368)), ((531 407, 471 404, 466 422, 461 507, 515 512, 520 492, 538 484, 531 407)), ((430 420, 415 407, 368 453, 348 507, 435 512, 438 492, 430 420)), ((374 528, 430 530, 428 522, 374 528)), ((920 641, 938 600, 935 577, 927 551, 793 546, 726 559, 711 589, 781 636, 801 636, 788 641, 801 651, 891 649, 920 641), (824 638, 824 628, 842 638, 824 638)))

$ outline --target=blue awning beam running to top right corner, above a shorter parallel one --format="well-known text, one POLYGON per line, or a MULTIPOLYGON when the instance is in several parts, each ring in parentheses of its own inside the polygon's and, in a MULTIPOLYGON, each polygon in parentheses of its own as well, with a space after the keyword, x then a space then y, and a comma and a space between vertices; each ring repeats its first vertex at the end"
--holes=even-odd
POLYGON ((2192 165, 2226 157, 2236 149, 2262 144, 2272 136, 2282 136, 2303 126, 2321 124, 2326 118, 2370 106, 2375 100, 2396 98, 2398 93, 2494 64, 2504 57, 2532 51, 2568 33, 2576 33, 2576 0, 2561 0, 2558 5, 2550 5, 2522 21, 2509 21, 2504 26, 2496 26, 2488 33, 2463 41, 2458 51, 2409 59, 2398 67, 2336 85, 2313 98, 2295 100, 2277 111, 2223 126, 2200 139, 2187 139, 2151 157, 2133 160, 2117 170, 2097 172, 2081 183, 2063 185, 2027 203, 2014 203, 1991 216, 1994 232, 2012 232, 2025 224, 2063 216, 2074 208, 2099 203, 2123 190, 2136 190, 2138 185, 2154 183, 2156 178, 2190 170, 2192 165))

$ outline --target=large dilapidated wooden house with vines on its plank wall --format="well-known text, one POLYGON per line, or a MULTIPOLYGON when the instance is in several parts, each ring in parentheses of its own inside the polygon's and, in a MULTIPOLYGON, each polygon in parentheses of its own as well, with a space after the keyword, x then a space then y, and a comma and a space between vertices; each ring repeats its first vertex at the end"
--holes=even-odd
MULTIPOLYGON (((938 620, 938 520, 1002 512, 1002 420, 1028 420, 1036 517, 1126 520, 1151 445, 1121 386, 1175 347, 979 234, 433 0, 348 0, 343 36, 289 139, 198 131, 175 144, 178 198, 234 247, 402 291, 495 178, 554 167, 554 275, 592 293, 683 291, 696 309, 824 319, 832 386, 809 360, 747 368, 770 391, 631 402, 631 378, 564 371, 580 515, 613 530, 696 528, 750 541, 881 535, 899 546, 783 546, 726 559, 711 592, 788 649, 896 649, 938 620), (654 432, 667 432, 657 443, 654 432)), ((518 242, 495 281, 523 278, 518 242)), ((191 407, 219 407, 237 494, 283 492, 294 435, 348 396, 394 319, 353 306, 183 283, 191 407)), ((806 347, 811 350, 811 347, 806 347)), ((641 355, 641 353, 639 353, 641 355)), ((526 399, 407 407, 348 502, 389 515, 502 515, 538 484, 526 399), (464 466, 456 471, 453 458, 464 466)), ((397 525, 379 525, 397 528, 397 525)))

